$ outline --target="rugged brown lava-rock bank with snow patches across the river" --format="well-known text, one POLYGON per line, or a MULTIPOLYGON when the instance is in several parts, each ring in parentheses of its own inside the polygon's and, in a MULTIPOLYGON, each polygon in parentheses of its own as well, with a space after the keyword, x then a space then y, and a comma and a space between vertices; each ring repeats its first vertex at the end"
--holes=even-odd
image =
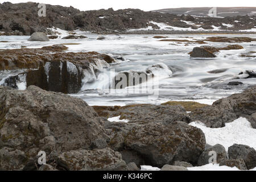
POLYGON ((212 18, 139 9, 80 11, 73 7, 52 5, 46 5, 46 9, 46 17, 39 17, 38 3, 0 4, 0 35, 31 35, 34 32, 55 34, 53 27, 67 31, 79 29, 95 34, 255 32, 256 21, 255 16, 248 15, 212 18))

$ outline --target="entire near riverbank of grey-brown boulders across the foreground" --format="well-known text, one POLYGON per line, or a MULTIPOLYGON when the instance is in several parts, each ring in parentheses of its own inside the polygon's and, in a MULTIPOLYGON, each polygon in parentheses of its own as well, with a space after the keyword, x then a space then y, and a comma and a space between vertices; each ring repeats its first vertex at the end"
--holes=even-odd
POLYGON ((100 117, 78 98, 36 86, 1 86, 0 169, 139 170, 148 165, 187 170, 208 164, 209 151, 217 153, 220 166, 252 169, 254 148, 234 144, 227 158, 224 147, 209 146, 203 131, 188 123, 200 120, 222 127, 242 116, 255 128, 255 92, 253 87, 190 114, 179 104, 94 107, 100 117), (115 115, 129 122, 109 122, 115 115), (46 152, 46 165, 37 163, 39 151, 46 152))

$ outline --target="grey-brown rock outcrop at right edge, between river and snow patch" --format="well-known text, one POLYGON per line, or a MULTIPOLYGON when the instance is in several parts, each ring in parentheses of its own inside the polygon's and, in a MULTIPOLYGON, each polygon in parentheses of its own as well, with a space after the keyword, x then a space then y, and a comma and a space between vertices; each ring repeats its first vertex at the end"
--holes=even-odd
POLYGON ((254 86, 242 93, 222 98, 214 102, 212 106, 193 110, 189 116, 192 121, 201 121, 207 127, 213 128, 224 127, 227 122, 245 117, 255 129, 255 121, 252 119, 253 114, 256 113, 255 95, 256 87, 254 86))

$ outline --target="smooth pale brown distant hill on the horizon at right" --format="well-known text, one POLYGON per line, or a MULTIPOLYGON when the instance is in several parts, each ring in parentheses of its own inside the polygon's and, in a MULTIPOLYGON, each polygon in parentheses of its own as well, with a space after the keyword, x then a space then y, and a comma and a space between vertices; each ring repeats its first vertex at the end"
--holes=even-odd
MULTIPOLYGON (((176 15, 192 15, 192 16, 208 16, 209 10, 212 7, 182 7, 182 8, 174 8, 174 9, 162 9, 155 10, 154 12, 160 13, 171 13, 176 15)), ((242 16, 256 15, 256 7, 217 7, 217 16, 242 16)))

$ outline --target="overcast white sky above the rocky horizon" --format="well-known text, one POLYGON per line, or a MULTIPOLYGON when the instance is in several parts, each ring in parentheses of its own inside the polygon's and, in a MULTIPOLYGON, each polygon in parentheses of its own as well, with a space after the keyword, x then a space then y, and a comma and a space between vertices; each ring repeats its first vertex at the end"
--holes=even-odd
MULTIPOLYGON (((8 0, 7 0, 8 1, 8 0)), ((0 3, 5 1, 0 0, 0 3)), ((27 2, 23 0, 9 0, 11 3, 27 2)), ((73 6, 80 10, 98 10, 112 7, 118 9, 141 9, 144 11, 175 8, 175 7, 256 7, 255 0, 32 0, 32 2, 51 5, 73 6)))

